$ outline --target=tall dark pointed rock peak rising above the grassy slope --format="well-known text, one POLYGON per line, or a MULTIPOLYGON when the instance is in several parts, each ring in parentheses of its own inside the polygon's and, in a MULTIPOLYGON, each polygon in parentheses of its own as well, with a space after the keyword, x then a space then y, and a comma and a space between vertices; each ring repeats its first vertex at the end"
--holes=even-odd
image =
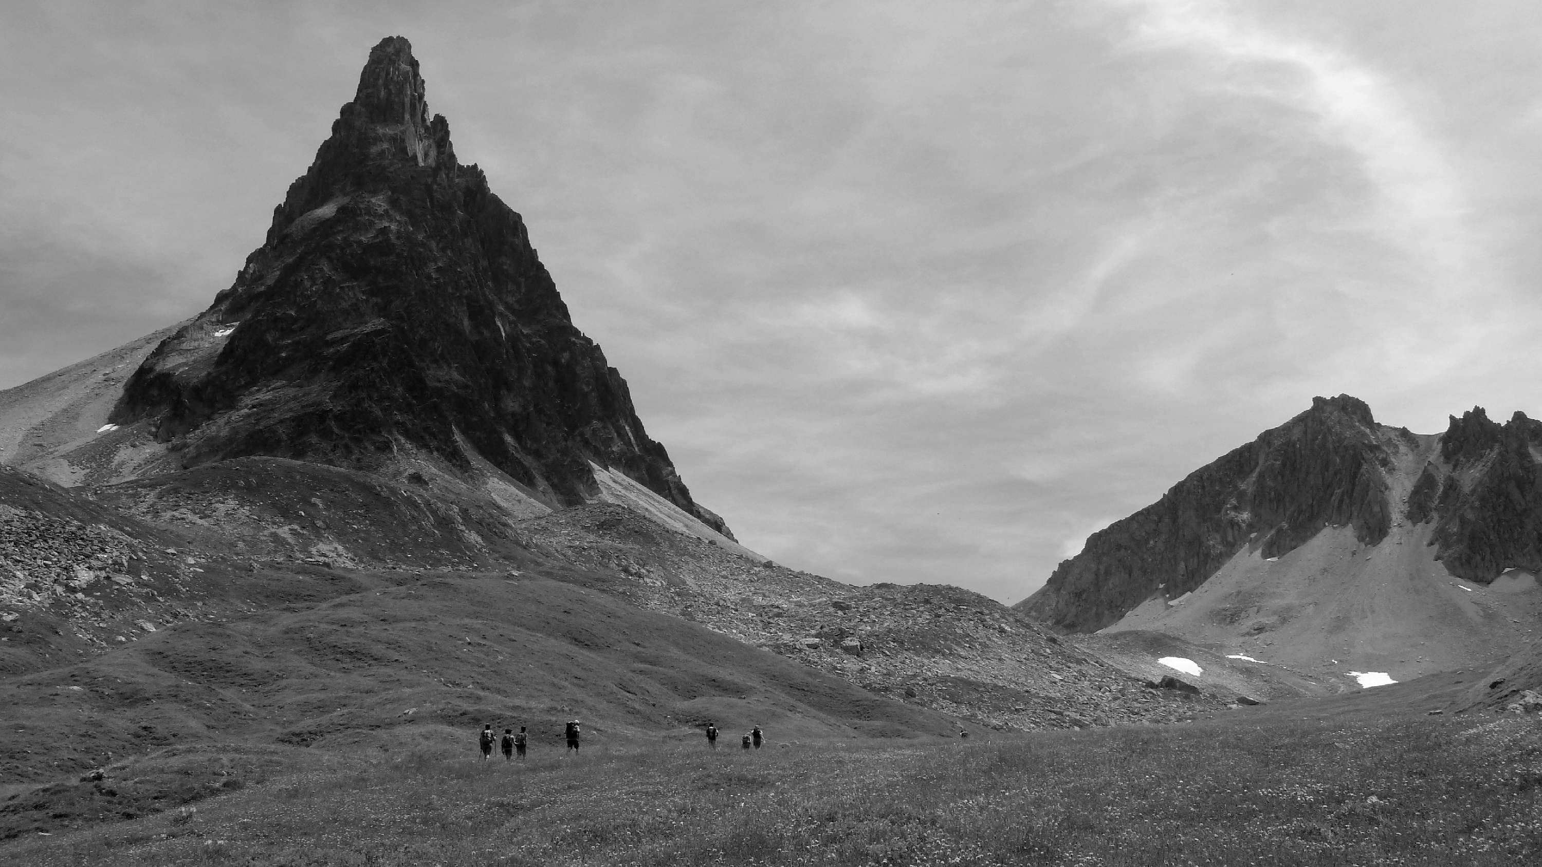
POLYGON ((470 468, 475 451, 554 505, 595 494, 592 460, 728 531, 574 326, 520 216, 456 160, 401 37, 370 51, 234 285, 125 385, 114 420, 145 417, 188 467, 406 448, 470 468))

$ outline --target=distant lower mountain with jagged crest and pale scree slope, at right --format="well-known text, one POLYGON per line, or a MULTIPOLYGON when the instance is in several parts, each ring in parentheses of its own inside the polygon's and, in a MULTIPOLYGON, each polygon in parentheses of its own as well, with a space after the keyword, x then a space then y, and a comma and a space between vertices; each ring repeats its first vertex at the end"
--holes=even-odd
POLYGON ((1311 673, 1483 664, 1542 630, 1542 425, 1439 436, 1318 397, 1095 533, 1021 605, 1067 631, 1161 631, 1311 673))

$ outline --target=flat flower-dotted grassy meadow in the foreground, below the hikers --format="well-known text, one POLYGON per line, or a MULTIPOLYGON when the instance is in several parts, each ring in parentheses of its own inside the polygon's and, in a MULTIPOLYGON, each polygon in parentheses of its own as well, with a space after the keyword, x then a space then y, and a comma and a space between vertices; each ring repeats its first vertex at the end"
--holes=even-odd
POLYGON ((1542 858, 1536 719, 1198 724, 526 767, 319 767, 15 864, 1494 864, 1542 858))

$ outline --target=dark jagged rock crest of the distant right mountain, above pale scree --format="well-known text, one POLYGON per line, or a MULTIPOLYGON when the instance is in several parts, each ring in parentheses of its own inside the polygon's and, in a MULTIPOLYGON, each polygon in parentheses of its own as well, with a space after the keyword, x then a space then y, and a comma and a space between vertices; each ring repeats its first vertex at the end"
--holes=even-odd
POLYGON ((1173 485, 1160 500, 1093 533, 1018 608, 1067 631, 1095 631, 1163 590, 1181 596, 1244 547, 1288 553, 1328 525, 1377 545, 1394 521, 1433 524, 1434 559, 1491 582, 1542 570, 1542 422, 1499 425, 1482 407, 1443 434, 1379 425, 1363 400, 1312 408, 1173 485), (1422 457, 1422 459, 1420 459, 1422 457), (1392 502, 1406 490, 1406 502, 1392 502))

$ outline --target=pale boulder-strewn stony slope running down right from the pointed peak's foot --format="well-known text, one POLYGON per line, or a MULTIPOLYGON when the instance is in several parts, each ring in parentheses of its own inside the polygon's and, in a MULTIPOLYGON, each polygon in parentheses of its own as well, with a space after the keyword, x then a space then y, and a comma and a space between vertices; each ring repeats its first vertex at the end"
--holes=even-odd
POLYGON ((606 570, 651 610, 992 728, 1178 722, 1234 696, 1152 690, 1029 618, 945 585, 851 587, 756 564, 615 505, 518 524, 554 559, 606 570))

